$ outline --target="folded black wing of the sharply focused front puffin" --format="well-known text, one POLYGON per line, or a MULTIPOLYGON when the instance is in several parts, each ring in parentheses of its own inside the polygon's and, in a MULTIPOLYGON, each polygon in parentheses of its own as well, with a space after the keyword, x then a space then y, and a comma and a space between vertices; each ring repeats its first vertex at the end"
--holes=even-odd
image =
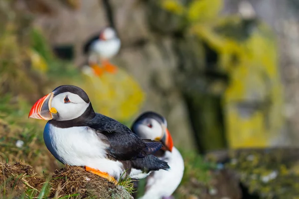
POLYGON ((127 126, 102 114, 96 113, 88 126, 107 137, 107 151, 118 160, 144 158, 162 147, 160 142, 141 139, 127 126))

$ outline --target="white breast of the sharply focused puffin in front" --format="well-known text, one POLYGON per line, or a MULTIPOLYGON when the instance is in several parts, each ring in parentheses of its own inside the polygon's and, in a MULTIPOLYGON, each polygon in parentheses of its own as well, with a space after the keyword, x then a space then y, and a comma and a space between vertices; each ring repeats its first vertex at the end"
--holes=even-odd
POLYGON ((85 166, 91 159, 106 157, 107 144, 89 127, 57 128, 47 123, 43 135, 48 150, 64 164, 85 166))

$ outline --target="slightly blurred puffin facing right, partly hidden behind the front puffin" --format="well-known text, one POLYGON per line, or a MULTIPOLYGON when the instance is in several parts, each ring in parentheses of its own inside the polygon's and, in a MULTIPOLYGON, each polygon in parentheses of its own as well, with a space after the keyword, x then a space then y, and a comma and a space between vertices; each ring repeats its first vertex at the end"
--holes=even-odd
POLYGON ((184 161, 173 146, 166 119, 156 112, 147 111, 134 121, 131 129, 141 138, 160 141, 163 147, 154 155, 170 167, 167 172, 154 171, 147 177, 145 194, 141 199, 171 198, 182 180, 184 161))

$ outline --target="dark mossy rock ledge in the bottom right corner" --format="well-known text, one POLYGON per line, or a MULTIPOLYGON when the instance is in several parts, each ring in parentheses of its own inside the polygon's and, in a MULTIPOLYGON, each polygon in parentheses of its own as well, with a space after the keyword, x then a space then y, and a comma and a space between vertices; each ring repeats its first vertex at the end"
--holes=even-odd
POLYGON ((235 171, 251 195, 262 199, 299 197, 299 149, 239 149, 209 153, 207 159, 235 171))

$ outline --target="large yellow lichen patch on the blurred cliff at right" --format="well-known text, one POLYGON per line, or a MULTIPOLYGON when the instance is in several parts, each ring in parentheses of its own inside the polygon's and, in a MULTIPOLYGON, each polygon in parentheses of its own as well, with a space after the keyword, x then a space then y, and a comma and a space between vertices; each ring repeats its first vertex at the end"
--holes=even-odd
POLYGON ((257 18, 219 16, 221 0, 163 2, 169 5, 162 7, 173 14, 178 13, 173 10, 181 10, 179 15, 185 19, 187 31, 215 51, 215 70, 229 77, 222 96, 229 146, 272 146, 281 135, 284 119, 277 42, 269 26, 257 18))

